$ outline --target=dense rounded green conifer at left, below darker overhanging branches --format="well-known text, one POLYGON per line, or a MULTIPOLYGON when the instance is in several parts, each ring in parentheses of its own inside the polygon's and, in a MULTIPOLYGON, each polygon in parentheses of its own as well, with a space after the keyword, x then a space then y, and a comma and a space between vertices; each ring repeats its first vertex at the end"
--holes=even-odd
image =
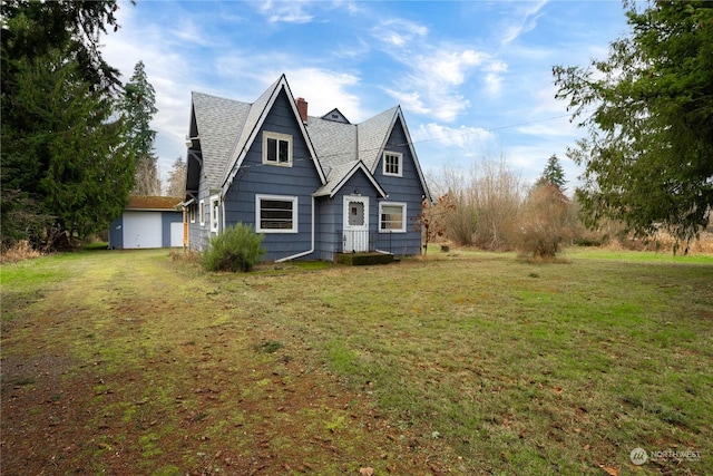
POLYGON ((38 215, 52 217, 29 236, 35 244, 61 246, 121 213, 134 183, 133 155, 121 120, 113 120, 113 99, 92 93, 76 61, 56 51, 18 67, 12 114, 23 120, 3 124, 3 188, 20 191, 40 204, 38 215))

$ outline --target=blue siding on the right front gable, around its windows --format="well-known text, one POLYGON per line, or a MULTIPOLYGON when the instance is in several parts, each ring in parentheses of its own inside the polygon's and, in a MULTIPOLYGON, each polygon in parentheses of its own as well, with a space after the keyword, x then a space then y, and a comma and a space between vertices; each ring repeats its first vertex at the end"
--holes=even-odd
MULTIPOLYGON (((406 233, 393 233, 392 251, 394 254, 412 255, 421 253, 421 232, 416 230, 418 215, 421 213, 421 203, 426 191, 421 186, 416 162, 411 149, 407 145, 407 137, 401 120, 398 120, 385 146, 387 152, 402 154, 402 174, 400 177, 383 175, 383 156, 379 158, 374 178, 389 194, 389 202, 402 202, 407 204, 406 233)), ((377 210, 378 212, 378 210, 377 210)), ((377 223, 378 226, 378 223, 377 223)))

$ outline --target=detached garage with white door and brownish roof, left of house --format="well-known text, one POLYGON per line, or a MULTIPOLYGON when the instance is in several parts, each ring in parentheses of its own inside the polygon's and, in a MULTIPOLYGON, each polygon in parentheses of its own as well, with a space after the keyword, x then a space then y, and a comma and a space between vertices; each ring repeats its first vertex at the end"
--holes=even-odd
POLYGON ((110 249, 183 246, 180 198, 130 196, 121 216, 109 226, 110 249))

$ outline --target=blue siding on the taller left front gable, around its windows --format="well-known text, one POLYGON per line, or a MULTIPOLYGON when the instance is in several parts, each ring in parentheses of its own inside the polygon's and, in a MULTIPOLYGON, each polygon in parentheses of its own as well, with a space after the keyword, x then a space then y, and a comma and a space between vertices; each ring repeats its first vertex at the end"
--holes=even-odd
MULTIPOLYGON (((310 250, 312 243, 312 193, 321 185, 300 126, 282 90, 251 145, 242 169, 225 195, 225 224, 255 226, 255 195, 297 197, 297 233, 265 233, 266 260, 279 260, 310 250), (263 165, 263 132, 292 136, 292 166, 263 165)), ((312 258, 314 256, 305 256, 312 258)))

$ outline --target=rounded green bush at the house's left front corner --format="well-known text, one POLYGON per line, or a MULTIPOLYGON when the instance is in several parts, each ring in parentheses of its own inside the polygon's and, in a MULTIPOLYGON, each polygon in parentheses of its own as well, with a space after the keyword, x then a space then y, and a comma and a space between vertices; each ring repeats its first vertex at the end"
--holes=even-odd
POLYGON ((262 241, 263 235, 252 226, 238 223, 211 239, 201 262, 207 271, 247 272, 265 254, 262 241))

